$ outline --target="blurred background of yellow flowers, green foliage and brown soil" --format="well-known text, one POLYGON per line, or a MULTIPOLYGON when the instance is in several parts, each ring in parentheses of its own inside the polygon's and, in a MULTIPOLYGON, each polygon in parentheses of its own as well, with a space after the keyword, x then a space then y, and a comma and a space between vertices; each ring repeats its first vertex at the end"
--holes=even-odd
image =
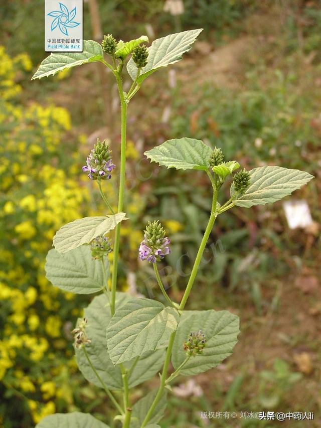
MULTIPOLYGON (((162 427, 271 426, 200 417, 266 409, 314 411, 314 421, 282 426, 319 426, 319 2, 185 0, 173 16, 171 2, 101 0, 98 22, 92 3, 84 3, 85 39, 97 37, 97 26, 123 40, 204 28, 184 61, 151 76, 129 107, 123 290, 163 299, 137 260, 146 221, 159 218, 172 239, 161 273, 179 299, 210 210, 207 177, 150 165, 145 150, 189 136, 249 169, 281 165, 316 176, 294 195, 309 204, 309 229, 290 230, 282 203, 219 217, 189 308, 237 313, 240 342, 218 369, 180 378, 162 427)), ((80 409, 113 426, 104 393, 83 380, 73 357, 70 330, 89 298, 51 286, 44 263, 61 225, 104 211, 81 166, 97 136, 110 140, 117 163, 116 91, 94 64, 30 82, 45 56, 43 13, 38 0, 0 6, 0 425, 29 428, 80 409)), ((105 186, 113 205, 116 189, 116 179, 105 186)))

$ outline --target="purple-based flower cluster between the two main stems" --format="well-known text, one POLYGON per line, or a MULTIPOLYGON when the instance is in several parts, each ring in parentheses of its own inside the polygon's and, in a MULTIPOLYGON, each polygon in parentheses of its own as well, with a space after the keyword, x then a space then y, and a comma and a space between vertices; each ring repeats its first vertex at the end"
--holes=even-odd
POLYGON ((149 221, 144 231, 144 239, 139 246, 139 258, 150 263, 162 260, 170 254, 170 239, 165 236, 165 230, 158 220, 149 221))

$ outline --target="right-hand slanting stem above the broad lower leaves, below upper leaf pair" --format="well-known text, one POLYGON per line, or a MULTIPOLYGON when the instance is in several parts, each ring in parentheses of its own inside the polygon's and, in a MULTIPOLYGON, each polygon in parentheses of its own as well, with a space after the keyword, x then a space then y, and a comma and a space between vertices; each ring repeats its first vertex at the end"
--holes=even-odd
POLYGON ((201 260, 202 260, 202 256, 203 256, 203 252, 204 252, 206 243, 208 241, 208 238, 209 238, 210 233, 212 231, 214 222, 215 222, 216 217, 218 215, 216 213, 217 193, 218 193, 217 189, 213 188, 213 201, 212 201, 211 216, 210 216, 209 222, 207 224, 206 230, 204 232, 204 236, 202 238, 199 250, 198 250, 197 255, 196 255, 196 259, 195 259, 194 266, 193 266, 193 269, 192 269, 192 272, 191 272, 191 276, 189 278, 189 281, 188 281, 188 284, 187 284, 184 296, 183 296, 181 304, 180 304, 180 308, 179 308, 180 311, 183 311, 183 309, 185 308, 186 302, 187 302, 187 300, 188 300, 188 298, 190 296, 190 293, 191 293, 191 290, 192 290, 192 287, 193 287, 193 284, 194 284, 194 281, 195 281, 195 278, 196 278, 196 275, 197 275, 197 271, 199 269, 199 266, 200 266, 200 263, 201 263, 201 260))

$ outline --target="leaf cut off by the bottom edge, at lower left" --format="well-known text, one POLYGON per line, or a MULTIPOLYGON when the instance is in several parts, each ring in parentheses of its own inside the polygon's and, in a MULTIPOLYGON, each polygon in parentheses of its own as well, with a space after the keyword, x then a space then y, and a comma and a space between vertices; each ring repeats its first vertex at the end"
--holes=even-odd
POLYGON ((36 428, 110 428, 89 413, 56 413, 44 417, 36 428))

